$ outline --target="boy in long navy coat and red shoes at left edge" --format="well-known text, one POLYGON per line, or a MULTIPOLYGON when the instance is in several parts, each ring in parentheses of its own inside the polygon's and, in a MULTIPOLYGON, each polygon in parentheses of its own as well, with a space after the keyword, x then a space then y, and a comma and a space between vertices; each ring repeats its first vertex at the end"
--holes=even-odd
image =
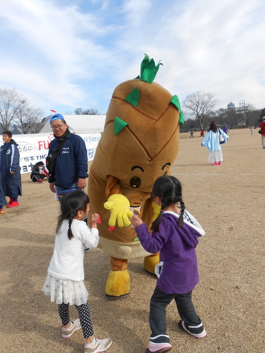
POLYGON ((10 131, 3 132, 3 141, 0 150, 2 187, 5 196, 10 197, 7 207, 16 207, 19 206, 17 197, 22 195, 18 144, 10 131))

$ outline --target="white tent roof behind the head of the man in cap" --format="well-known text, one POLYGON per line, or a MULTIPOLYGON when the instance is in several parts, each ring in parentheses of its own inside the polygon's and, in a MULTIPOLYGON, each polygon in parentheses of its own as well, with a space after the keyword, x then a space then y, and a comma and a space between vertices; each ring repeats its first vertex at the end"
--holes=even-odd
MULTIPOLYGON (((102 133, 106 115, 63 115, 70 132, 75 134, 102 133)), ((50 119, 48 119, 40 133, 51 132, 50 119)))

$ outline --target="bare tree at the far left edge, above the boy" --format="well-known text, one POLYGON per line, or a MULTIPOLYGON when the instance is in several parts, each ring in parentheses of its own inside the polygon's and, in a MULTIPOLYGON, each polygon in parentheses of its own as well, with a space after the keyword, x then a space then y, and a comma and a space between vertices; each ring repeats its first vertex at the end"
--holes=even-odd
POLYGON ((0 89, 0 124, 3 131, 9 130, 9 125, 24 98, 15 89, 0 89))

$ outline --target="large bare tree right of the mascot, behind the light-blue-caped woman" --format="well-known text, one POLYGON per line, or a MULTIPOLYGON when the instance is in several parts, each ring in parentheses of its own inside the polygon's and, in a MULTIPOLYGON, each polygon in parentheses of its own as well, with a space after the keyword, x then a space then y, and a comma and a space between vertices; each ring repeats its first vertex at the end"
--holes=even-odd
POLYGON ((218 103, 217 99, 213 99, 214 93, 201 93, 200 91, 186 96, 183 105, 198 120, 201 129, 203 129, 203 122, 208 117, 211 110, 218 103))

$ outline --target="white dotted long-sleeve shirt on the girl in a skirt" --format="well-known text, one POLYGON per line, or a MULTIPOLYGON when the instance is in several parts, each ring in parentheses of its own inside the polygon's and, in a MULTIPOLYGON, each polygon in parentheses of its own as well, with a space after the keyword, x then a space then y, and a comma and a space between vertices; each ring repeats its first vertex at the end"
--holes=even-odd
POLYGON ((71 230, 74 238, 69 240, 68 227, 68 220, 64 220, 55 236, 54 254, 48 273, 61 279, 83 281, 84 250, 98 246, 99 231, 96 228, 90 230, 84 221, 73 219, 71 230))

